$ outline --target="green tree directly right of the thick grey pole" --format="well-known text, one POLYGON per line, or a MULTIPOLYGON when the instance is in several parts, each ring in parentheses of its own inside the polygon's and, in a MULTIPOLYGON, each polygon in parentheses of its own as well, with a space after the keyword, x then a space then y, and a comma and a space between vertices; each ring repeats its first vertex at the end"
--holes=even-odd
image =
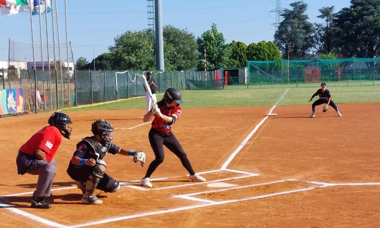
POLYGON ((166 70, 187 70, 196 66, 198 53, 193 33, 166 25, 163 37, 166 70))

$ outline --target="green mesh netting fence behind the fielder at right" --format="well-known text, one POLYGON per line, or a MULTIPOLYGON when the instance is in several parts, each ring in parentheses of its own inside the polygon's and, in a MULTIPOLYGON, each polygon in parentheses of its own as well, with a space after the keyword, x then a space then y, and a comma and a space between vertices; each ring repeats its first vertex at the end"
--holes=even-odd
POLYGON ((248 84, 379 85, 380 58, 247 61, 248 84))

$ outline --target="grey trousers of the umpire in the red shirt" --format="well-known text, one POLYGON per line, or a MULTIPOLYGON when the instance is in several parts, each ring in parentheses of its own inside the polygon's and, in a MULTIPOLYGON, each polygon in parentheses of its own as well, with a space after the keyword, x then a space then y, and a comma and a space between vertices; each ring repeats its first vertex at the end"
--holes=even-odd
MULTIPOLYGON (((17 160, 18 168, 23 168, 23 166, 28 165, 28 162, 25 160, 21 162, 20 156, 17 156, 17 160)), ((34 167, 27 172, 31 175, 39 175, 37 187, 34 192, 34 198, 50 197, 53 179, 57 173, 55 159, 53 159, 50 163, 45 162, 44 160, 36 160, 34 162, 36 162, 34 167)))

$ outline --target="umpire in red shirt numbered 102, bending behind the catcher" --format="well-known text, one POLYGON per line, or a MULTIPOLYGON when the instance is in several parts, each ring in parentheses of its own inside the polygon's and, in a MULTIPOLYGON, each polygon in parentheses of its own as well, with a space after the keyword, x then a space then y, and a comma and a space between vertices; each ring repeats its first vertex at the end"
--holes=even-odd
POLYGON ((16 159, 18 174, 39 175, 30 205, 32 208, 51 208, 44 199, 51 196, 56 174, 54 155, 61 144, 62 136, 69 139, 71 134, 69 124, 72 123, 65 113, 54 112, 48 123, 49 126, 37 131, 20 147, 16 159))

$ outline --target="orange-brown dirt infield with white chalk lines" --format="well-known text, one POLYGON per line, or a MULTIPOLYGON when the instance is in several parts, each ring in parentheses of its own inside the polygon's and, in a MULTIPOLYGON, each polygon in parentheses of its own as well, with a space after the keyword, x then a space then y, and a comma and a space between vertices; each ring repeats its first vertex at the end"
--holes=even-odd
POLYGON ((267 118, 271 106, 184 108, 173 132, 207 182, 189 181, 166 150, 151 177, 166 179, 146 189, 135 181, 147 166, 109 154, 106 172, 123 187, 113 194, 98 191, 102 205, 83 205, 66 174, 75 144, 91 134, 93 121, 107 119, 116 128, 113 142, 146 151, 149 164, 150 125, 138 126, 144 110, 66 112, 72 138, 62 140, 55 157, 49 210, 29 208, 37 177, 17 175, 15 159, 51 113, 0 119, 2 227, 379 227, 380 103, 339 108, 341 118, 318 107, 314 119, 308 118, 310 105, 277 106, 277 117, 267 118))

